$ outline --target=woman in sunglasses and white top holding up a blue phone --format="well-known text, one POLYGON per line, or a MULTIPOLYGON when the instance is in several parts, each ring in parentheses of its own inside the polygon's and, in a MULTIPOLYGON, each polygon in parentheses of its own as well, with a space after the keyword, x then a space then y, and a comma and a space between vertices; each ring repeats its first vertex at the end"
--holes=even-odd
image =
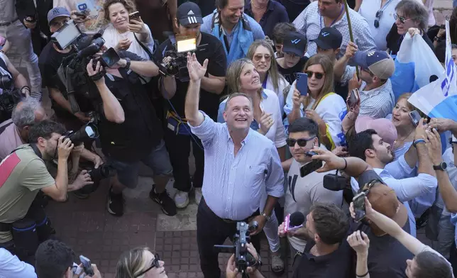
POLYGON ((321 143, 333 150, 346 145, 341 120, 346 115, 346 103, 334 93, 334 63, 326 55, 316 54, 304 65, 308 78, 306 96, 292 83, 284 111, 289 123, 306 116, 319 126, 321 143))

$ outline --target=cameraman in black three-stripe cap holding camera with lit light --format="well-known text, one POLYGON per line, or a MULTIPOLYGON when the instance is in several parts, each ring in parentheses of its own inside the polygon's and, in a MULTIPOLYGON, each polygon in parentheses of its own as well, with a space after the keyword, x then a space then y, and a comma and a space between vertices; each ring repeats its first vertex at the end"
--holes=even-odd
MULTIPOLYGON (((224 90, 226 75, 226 54, 221 42, 207 33, 200 32, 202 25, 202 12, 199 6, 192 2, 186 2, 177 9, 177 19, 175 25, 180 33, 178 35, 195 38, 197 50, 195 56, 200 63, 208 59, 208 70, 202 78, 202 91, 200 93, 199 109, 207 113, 209 117, 216 120, 217 109, 219 107, 220 94, 224 90)), ((155 52, 156 60, 164 63, 170 62, 173 55, 177 53, 176 43, 172 39, 165 40, 155 52)), ((181 55, 180 61, 186 66, 185 53, 181 55)), ((169 102, 167 105, 167 128, 165 128, 165 143, 170 154, 170 161, 173 166, 173 176, 175 177, 175 204, 178 208, 185 208, 189 204, 188 193, 195 189, 195 200, 199 204, 202 199, 204 150, 202 142, 191 133, 187 126, 185 117, 185 96, 189 86, 187 80, 182 80, 179 75, 167 74, 161 77, 160 91, 169 102), (195 157, 195 173, 193 180, 189 177, 190 143, 192 142, 192 152, 195 157)))

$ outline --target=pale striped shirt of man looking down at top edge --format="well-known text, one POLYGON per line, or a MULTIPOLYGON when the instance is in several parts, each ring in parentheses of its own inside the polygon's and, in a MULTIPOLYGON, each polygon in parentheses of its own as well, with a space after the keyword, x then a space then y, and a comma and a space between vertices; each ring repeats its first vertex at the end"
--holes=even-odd
MULTIPOLYGON (((314 55, 317 52, 316 43, 311 40, 316 40, 321 32, 321 29, 325 27, 324 18, 319 13, 317 2, 318 1, 314 1, 312 4, 309 4, 293 22, 294 26, 307 37, 307 52, 309 55, 314 55)), ((373 40, 370 27, 368 26, 368 22, 365 18, 360 16, 360 14, 353 9, 349 9, 349 14, 351 16, 352 33, 354 35, 354 40, 356 40, 358 50, 376 50, 375 40, 373 40)), ((346 13, 339 21, 332 24, 331 27, 336 28, 343 36, 340 52, 336 56, 336 58, 339 59, 346 52, 346 45, 348 45, 350 40, 346 13)))

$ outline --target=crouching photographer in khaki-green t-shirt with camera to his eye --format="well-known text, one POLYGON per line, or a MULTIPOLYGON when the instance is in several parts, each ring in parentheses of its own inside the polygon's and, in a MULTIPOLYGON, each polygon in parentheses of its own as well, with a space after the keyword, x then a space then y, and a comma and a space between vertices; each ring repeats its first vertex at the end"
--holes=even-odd
POLYGON ((67 160, 79 155, 62 134, 59 123, 44 120, 31 127, 28 145, 21 145, 0 164, 0 247, 15 252, 21 260, 33 255, 38 242, 50 236, 50 223, 43 207, 33 202, 38 191, 55 201, 65 201, 68 186, 67 160), (73 155, 72 155, 73 156, 73 155), (57 159, 57 176, 51 177, 45 161, 57 159))

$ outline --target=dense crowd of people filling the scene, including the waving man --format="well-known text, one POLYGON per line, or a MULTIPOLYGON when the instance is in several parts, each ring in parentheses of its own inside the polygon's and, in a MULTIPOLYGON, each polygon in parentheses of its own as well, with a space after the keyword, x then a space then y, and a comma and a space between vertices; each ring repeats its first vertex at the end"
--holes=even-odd
MULTIPOLYGON (((290 257, 296 278, 454 277, 457 119, 427 117, 391 79, 410 78, 395 61, 407 37, 444 72, 449 35, 457 64, 457 8, 446 34, 434 0, 348 2, 0 0, 0 277, 101 277, 56 240, 45 206, 107 179, 106 210, 123 216, 141 162, 163 213, 198 205, 206 278, 241 222, 255 223, 252 260, 232 255, 228 278, 263 277, 261 232, 275 274, 290 257)), ((133 248, 116 277, 166 277, 164 262, 133 248)))

